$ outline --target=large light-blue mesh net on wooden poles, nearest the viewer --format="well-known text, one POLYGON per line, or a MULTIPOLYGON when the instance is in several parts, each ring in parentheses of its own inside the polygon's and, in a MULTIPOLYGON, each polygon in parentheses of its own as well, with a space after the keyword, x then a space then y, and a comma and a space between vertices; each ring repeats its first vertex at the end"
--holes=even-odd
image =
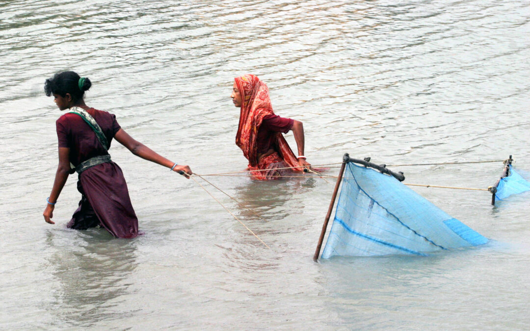
POLYGON ((487 242, 394 177, 348 163, 322 258, 427 255, 487 242))

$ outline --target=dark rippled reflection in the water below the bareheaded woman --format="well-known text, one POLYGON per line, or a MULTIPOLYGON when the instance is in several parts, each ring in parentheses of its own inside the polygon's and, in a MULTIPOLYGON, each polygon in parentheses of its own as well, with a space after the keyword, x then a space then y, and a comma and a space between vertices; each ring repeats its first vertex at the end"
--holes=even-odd
MULTIPOLYGON (((56 307, 51 309, 60 320, 78 327, 123 318, 113 307, 123 301, 122 296, 130 294, 129 277, 137 266, 137 242, 114 239, 101 228, 75 232, 73 241, 47 232, 46 246, 55 252, 47 260, 60 283, 55 293, 56 307)), ((129 314, 132 316, 134 311, 129 314)))

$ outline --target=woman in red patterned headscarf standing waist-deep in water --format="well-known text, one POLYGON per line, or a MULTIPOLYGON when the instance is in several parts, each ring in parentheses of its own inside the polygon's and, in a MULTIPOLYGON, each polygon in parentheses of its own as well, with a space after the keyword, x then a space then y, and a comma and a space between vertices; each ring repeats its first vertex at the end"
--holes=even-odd
POLYGON ((304 156, 304 127, 302 122, 281 118, 272 111, 269 88, 255 75, 234 78, 232 101, 241 109, 235 143, 249 160, 252 178, 279 179, 291 171, 310 167, 304 156), (298 157, 281 133, 293 130, 298 157), (296 167, 293 169, 283 169, 296 167))

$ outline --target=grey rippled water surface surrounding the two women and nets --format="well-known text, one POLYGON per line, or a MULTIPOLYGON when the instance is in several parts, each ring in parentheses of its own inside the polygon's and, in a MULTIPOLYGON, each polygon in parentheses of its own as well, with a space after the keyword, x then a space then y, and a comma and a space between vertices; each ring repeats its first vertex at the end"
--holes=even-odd
MULTIPOLYGON (((0 327, 3 329, 527 329, 530 195, 418 187, 491 238, 431 257, 312 255, 333 184, 209 177, 255 237, 192 180, 111 154, 144 236, 66 222, 44 80, 73 69, 86 102, 199 174, 246 167, 233 77, 257 74, 304 122, 312 164, 501 160, 530 171, 530 3, 470 1, 0 1, 0 327)), ((291 133, 288 141, 294 145, 291 133)), ((502 164, 403 166, 407 182, 486 188, 502 164)), ((337 168, 326 174, 336 175, 337 168)))

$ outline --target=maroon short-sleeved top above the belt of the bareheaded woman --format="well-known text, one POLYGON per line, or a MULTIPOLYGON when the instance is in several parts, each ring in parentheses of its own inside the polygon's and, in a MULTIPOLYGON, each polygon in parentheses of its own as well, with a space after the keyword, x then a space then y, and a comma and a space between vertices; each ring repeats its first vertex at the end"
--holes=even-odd
MULTIPOLYGON (((110 148, 112 138, 121 128, 120 124, 116 121, 116 115, 94 108, 89 108, 87 112, 98 122, 105 137, 107 137, 110 148)), ((80 115, 66 113, 55 124, 57 127, 59 147, 67 147, 70 149, 70 162, 74 166, 94 156, 109 154, 101 146, 94 131, 80 115)))

